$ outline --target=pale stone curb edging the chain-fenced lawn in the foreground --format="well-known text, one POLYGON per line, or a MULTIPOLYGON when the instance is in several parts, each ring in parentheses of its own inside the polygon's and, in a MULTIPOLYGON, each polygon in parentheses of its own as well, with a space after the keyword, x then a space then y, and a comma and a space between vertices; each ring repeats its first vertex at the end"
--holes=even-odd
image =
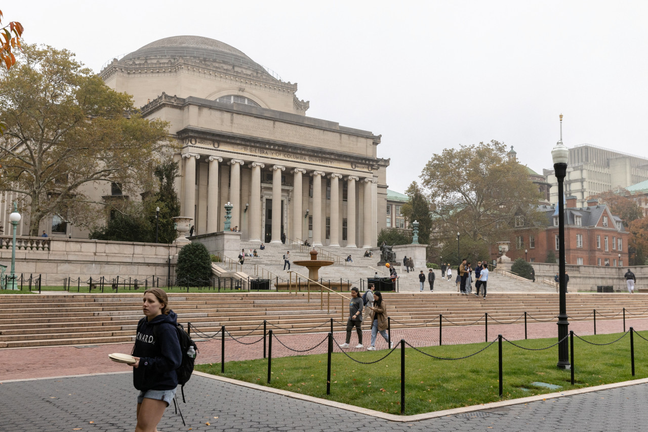
POLYGON ((308 396, 306 394, 300 394, 300 393, 295 393, 295 392, 281 390, 281 389, 274 389, 273 387, 266 387, 264 385, 248 383, 246 381, 233 380, 232 378, 226 378, 223 376, 205 374, 204 372, 198 372, 197 370, 194 370, 193 374, 202 376, 203 378, 209 378, 210 380, 222 381, 234 385, 240 385, 241 387, 248 387, 248 389, 255 389, 259 391, 280 394, 281 396, 287 396, 289 398, 305 400, 307 402, 314 402, 315 404, 326 405, 333 408, 344 409, 346 411, 352 411, 353 413, 364 414, 376 418, 382 418, 383 420, 389 420, 391 422, 419 422, 421 420, 428 420, 430 418, 438 418, 443 416, 452 416, 452 415, 463 414, 463 413, 471 413, 474 411, 485 411, 487 409, 495 409, 495 408, 507 407, 511 405, 528 404, 529 402, 538 402, 538 401, 550 400, 555 398, 562 398, 563 396, 575 396, 577 394, 585 394, 585 393, 603 391, 608 389, 616 389, 618 387, 628 387, 630 385, 648 383, 648 378, 642 378, 640 380, 622 381, 620 383, 596 385, 594 387, 584 387, 583 389, 567 390, 564 392, 538 394, 537 396, 528 396, 526 398, 501 400, 498 402, 489 402, 488 404, 472 405, 470 407, 444 409, 443 411, 434 411, 433 413, 422 413, 422 414, 416 414, 411 416, 399 416, 394 414, 381 413, 380 411, 375 411, 373 409, 356 407, 355 405, 342 404, 341 402, 334 402, 332 400, 316 398, 314 396, 308 396))

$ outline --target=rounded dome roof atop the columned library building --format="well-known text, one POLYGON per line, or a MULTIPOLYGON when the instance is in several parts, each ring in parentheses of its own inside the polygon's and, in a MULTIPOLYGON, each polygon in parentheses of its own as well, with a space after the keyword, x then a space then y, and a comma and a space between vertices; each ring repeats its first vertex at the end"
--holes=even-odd
POLYGON ((227 45, 227 43, 202 36, 171 36, 159 39, 144 45, 137 51, 126 54, 119 61, 160 57, 215 60, 270 75, 262 65, 246 56, 244 52, 227 45))

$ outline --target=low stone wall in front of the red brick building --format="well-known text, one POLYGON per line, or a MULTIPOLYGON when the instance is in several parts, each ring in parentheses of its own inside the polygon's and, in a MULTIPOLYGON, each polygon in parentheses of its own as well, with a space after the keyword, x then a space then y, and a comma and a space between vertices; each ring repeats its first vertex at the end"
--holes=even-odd
MULTIPOLYGON (((531 265, 535 270, 536 279, 553 280, 553 277, 558 272, 558 264, 533 262, 531 265)), ((625 275, 625 272, 628 271, 629 268, 637 279, 636 289, 648 287, 648 266, 566 266, 566 272, 569 275, 568 288, 570 291, 596 291, 596 287, 602 285, 613 286, 615 291, 627 291, 625 277, 623 277, 623 275, 625 275)))

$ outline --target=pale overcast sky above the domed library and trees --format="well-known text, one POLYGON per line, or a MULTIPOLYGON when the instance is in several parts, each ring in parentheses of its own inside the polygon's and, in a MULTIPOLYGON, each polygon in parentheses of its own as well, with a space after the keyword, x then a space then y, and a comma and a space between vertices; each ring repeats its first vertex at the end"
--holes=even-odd
POLYGON ((648 156, 648 1, 12 1, 3 23, 95 71, 168 36, 297 82, 307 115, 382 135, 389 188, 495 139, 542 174, 559 139, 648 156))

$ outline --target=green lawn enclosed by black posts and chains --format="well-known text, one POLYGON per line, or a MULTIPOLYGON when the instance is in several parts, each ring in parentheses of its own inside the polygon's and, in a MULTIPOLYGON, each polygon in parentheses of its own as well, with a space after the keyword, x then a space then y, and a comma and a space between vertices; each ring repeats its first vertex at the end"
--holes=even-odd
MULTIPOLYGON (((618 339, 620 335, 586 336, 584 339, 595 343, 607 343, 618 339)), ((648 339, 648 332, 645 337, 648 339)), ((553 345, 555 341, 555 339, 529 339, 515 343, 526 348, 544 348, 553 345)), ((419 349, 438 357, 459 358, 477 352, 486 345, 475 343, 419 349)), ((387 352, 388 350, 364 351, 352 352, 349 355, 366 362, 376 361, 387 352)), ((648 377, 648 367, 643 367, 648 359, 648 341, 637 335, 634 337, 634 355, 636 376, 633 377, 629 335, 605 347, 590 345, 574 337, 575 385, 572 386, 570 370, 556 367, 558 347, 529 351, 503 341, 503 399, 522 398, 555 391, 531 385, 537 381, 561 385, 560 390, 564 391, 648 377)), ((406 348, 405 367, 406 415, 500 400, 497 343, 476 356, 461 360, 433 359, 406 348)), ((266 359, 226 362, 224 374, 220 373, 220 363, 197 365, 196 370, 268 385, 266 359)), ((334 353, 329 396, 326 394, 326 374, 326 354, 273 358, 270 387, 385 413, 400 413, 400 348, 388 358, 371 365, 362 365, 344 354, 334 353)))

